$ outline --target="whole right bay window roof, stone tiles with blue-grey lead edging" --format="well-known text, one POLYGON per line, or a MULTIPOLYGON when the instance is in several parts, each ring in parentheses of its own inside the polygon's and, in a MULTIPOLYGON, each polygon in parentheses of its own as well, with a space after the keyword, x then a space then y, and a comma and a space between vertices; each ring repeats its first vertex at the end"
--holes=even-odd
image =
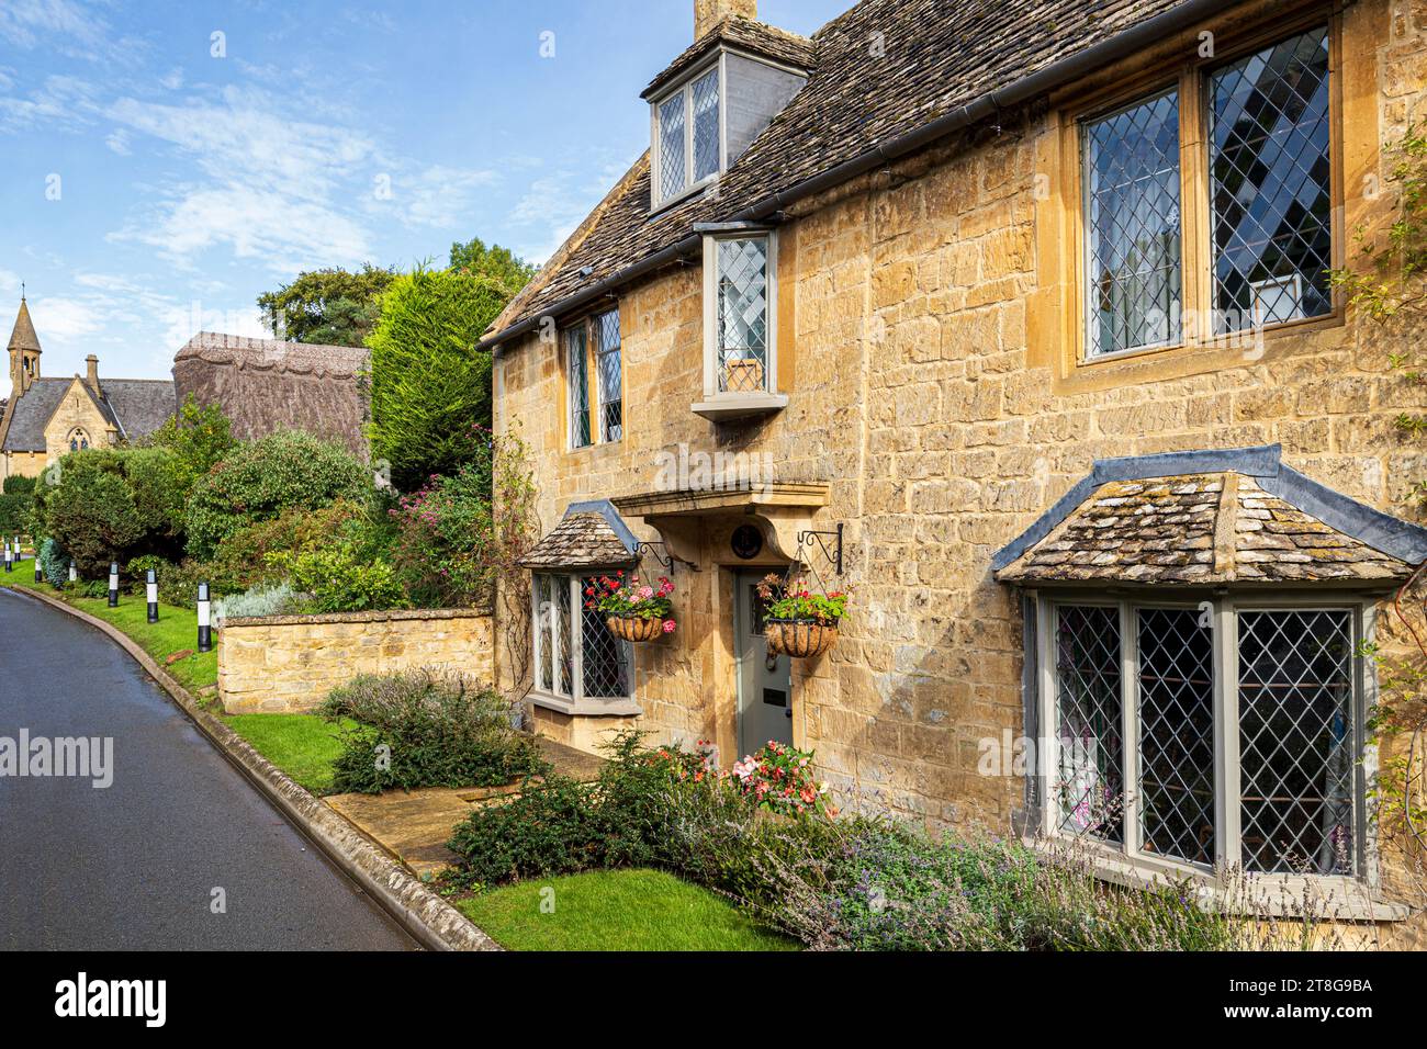
POLYGON ((1037 587, 1391 587, 1423 559, 1427 529, 1311 481, 1267 445, 1103 460, 992 568, 1037 587))

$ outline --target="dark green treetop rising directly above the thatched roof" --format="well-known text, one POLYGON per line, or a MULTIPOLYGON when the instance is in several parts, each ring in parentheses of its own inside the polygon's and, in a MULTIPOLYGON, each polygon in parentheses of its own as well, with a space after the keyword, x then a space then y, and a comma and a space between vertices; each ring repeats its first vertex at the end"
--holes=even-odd
POLYGON ((294 343, 362 345, 381 315, 381 295, 394 270, 370 263, 360 273, 341 267, 301 273, 291 284, 258 295, 271 331, 294 343))

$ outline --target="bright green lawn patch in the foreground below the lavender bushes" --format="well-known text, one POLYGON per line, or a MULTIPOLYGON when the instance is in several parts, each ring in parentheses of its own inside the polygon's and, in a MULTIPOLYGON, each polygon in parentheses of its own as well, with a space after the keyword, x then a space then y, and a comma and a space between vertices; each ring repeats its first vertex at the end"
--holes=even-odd
POLYGON ((511 951, 799 949, 722 896, 662 871, 592 871, 452 903, 511 951))

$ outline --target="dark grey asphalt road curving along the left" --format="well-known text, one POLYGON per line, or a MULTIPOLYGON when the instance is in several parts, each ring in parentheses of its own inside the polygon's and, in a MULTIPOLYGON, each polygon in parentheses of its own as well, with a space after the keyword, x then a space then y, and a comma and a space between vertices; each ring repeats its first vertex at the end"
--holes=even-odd
POLYGON ((0 949, 414 948, 121 648, 0 589, 0 949), (113 784, 4 774, 21 729, 113 738, 113 784))

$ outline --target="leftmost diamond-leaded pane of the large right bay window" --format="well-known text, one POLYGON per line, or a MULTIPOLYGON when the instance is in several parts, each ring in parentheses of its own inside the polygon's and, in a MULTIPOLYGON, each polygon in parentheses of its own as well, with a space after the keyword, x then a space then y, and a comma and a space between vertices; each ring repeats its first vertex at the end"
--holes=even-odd
POLYGON ((1120 612, 1063 607, 1056 617, 1056 782, 1060 829, 1124 841, 1120 612))

